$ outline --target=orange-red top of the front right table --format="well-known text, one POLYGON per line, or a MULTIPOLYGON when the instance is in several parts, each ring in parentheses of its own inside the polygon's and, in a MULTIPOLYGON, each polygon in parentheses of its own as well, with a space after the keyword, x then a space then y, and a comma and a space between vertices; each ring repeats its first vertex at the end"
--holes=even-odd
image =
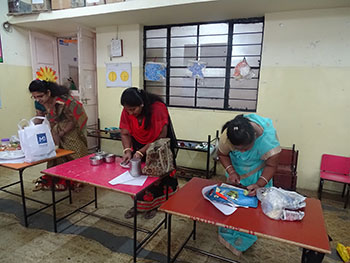
POLYGON ((258 208, 238 208, 232 215, 225 216, 202 196, 203 187, 216 183, 213 180, 193 178, 159 210, 302 248, 331 253, 319 200, 306 199, 305 216, 302 221, 270 219, 263 213, 260 202, 258 208))

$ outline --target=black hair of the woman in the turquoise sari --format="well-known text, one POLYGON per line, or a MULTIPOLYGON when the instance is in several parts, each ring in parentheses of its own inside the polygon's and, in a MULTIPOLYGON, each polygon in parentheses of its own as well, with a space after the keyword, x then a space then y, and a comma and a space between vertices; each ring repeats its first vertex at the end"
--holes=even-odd
POLYGON ((224 124, 221 133, 227 129, 227 138, 233 145, 249 145, 255 140, 255 130, 243 114, 224 124))

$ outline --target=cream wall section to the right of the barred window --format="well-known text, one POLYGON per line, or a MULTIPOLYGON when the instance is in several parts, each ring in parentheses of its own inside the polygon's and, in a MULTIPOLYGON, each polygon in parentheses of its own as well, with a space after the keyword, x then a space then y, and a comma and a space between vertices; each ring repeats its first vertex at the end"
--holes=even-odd
POLYGON ((299 149, 299 187, 317 188, 323 153, 350 155, 349 26, 348 8, 266 15, 258 113, 299 149))

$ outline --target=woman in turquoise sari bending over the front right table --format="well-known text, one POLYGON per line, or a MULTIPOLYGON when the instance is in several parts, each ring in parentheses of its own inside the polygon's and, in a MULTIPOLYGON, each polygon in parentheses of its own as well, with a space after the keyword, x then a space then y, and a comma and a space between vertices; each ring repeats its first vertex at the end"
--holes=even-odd
MULTIPOLYGON (((218 157, 227 182, 246 186, 250 196, 260 187, 271 187, 281 152, 272 121, 256 114, 238 115, 221 132, 218 157)), ((220 243, 237 256, 256 240, 254 235, 219 228, 220 243)))

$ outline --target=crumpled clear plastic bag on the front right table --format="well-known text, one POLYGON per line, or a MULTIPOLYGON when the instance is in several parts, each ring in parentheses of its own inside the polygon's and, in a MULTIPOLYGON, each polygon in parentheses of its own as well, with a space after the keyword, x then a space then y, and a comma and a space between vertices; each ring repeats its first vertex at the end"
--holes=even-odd
POLYGON ((299 221, 305 215, 299 210, 306 206, 306 198, 296 192, 276 187, 260 188, 257 197, 264 214, 272 219, 299 221))

